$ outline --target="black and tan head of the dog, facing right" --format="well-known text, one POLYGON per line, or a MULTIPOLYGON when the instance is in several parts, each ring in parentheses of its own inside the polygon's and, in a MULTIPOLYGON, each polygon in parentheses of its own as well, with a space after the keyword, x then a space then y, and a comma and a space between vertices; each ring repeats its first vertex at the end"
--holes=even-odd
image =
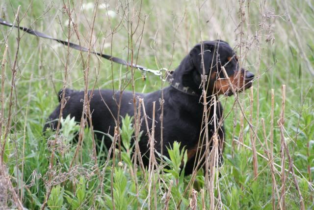
POLYGON ((252 86, 254 74, 238 65, 230 45, 222 40, 197 44, 182 60, 173 77, 195 92, 201 93, 202 77, 206 78, 207 94, 232 95, 252 86))

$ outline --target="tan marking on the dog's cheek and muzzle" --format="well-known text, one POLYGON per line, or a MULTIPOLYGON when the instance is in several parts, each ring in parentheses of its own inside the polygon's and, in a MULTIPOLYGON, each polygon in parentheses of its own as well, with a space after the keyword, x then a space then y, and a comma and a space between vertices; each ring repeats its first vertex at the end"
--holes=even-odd
MULTIPOLYGON (((242 71, 244 73, 244 71, 242 71)), ((229 76, 232 87, 235 91, 241 90, 244 86, 244 75, 241 71, 235 71, 235 74, 229 76)), ((229 82, 226 78, 218 78, 215 82, 215 91, 218 94, 225 94, 229 90, 229 82)), ((232 90, 230 90, 232 91, 232 90)))

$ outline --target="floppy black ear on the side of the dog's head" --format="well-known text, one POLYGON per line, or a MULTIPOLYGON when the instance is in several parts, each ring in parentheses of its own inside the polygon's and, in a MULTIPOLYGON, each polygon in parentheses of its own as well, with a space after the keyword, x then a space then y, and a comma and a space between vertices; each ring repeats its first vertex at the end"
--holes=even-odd
POLYGON ((203 74, 203 67, 205 68, 205 74, 209 73, 209 68, 213 61, 213 50, 213 45, 201 43, 190 51, 192 63, 199 74, 203 74))

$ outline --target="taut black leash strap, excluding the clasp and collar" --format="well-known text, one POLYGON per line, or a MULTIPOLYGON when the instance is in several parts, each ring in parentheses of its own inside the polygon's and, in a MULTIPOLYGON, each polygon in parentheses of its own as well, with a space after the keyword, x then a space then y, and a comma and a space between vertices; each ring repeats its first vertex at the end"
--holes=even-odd
MULTIPOLYGON (((21 26, 18 27, 18 26, 16 26, 16 25, 13 25, 13 24, 11 24, 11 23, 6 22, 5 20, 3 20, 3 19, 1 19, 1 18, 0 18, 0 24, 1 24, 1 25, 4 25, 4 26, 9 26, 9 27, 15 27, 15 28, 18 28, 18 29, 20 29, 20 30, 23 30, 23 31, 25 31, 25 32, 27 32, 27 33, 29 33, 29 34, 32 34, 32 35, 34 35, 34 36, 41 37, 41 38, 45 38, 45 39, 51 39, 51 40, 57 41, 57 42, 59 42, 59 43, 61 43, 61 44, 63 44, 63 45, 66 45, 66 46, 69 45, 69 47, 74 48, 74 49, 79 50, 79 51, 88 52, 88 49, 85 48, 85 47, 81 47, 81 46, 79 46, 79 45, 77 45, 77 44, 74 44, 74 43, 72 43, 72 42, 67 42, 67 41, 64 41, 64 40, 61 40, 61 39, 53 38, 53 37, 51 37, 51 36, 49 36, 49 35, 47 35, 47 34, 44 34, 44 33, 42 33, 42 32, 39 32, 39 31, 37 31, 37 30, 32 30, 32 29, 28 29, 28 28, 26 28, 26 27, 21 27, 21 26)), ((98 53, 98 52, 94 52, 94 51, 90 51, 90 52, 91 52, 92 54, 101 56, 101 57, 103 57, 104 59, 111 60, 112 62, 120 63, 120 64, 126 65, 126 66, 133 66, 134 68, 137 68, 137 69, 139 69, 139 70, 141 70, 141 71, 149 71, 149 72, 154 73, 154 74, 157 75, 157 76, 161 76, 161 71, 159 71, 159 70, 149 69, 149 68, 146 68, 146 67, 144 67, 144 66, 136 65, 136 64, 134 64, 134 63, 131 64, 131 63, 125 61, 125 60, 122 60, 122 59, 119 59, 119 58, 116 58, 116 57, 113 57, 113 56, 109 56, 109 55, 106 55, 106 54, 102 54, 102 53, 98 53)))

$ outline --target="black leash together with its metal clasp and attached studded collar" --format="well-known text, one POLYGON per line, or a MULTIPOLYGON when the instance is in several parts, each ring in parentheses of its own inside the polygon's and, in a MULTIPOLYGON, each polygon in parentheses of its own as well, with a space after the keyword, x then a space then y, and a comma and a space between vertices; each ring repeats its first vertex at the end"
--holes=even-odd
MULTIPOLYGON (((39 32, 39 31, 37 31, 37 30, 32 30, 32 29, 28 29, 28 28, 26 28, 26 27, 21 27, 21 26, 18 27, 18 26, 16 26, 16 25, 13 25, 13 24, 11 24, 11 23, 6 22, 5 20, 3 20, 3 19, 1 19, 1 18, 0 18, 0 25, 4 25, 4 26, 8 26, 8 27, 15 27, 15 28, 18 28, 18 29, 20 29, 20 30, 23 30, 23 31, 25 31, 25 32, 27 32, 27 33, 29 33, 29 34, 32 34, 32 35, 34 35, 34 36, 41 37, 41 38, 45 38, 45 39, 51 39, 51 40, 57 41, 57 42, 59 42, 59 43, 61 43, 61 44, 63 44, 63 45, 66 45, 66 46, 69 46, 69 47, 71 47, 71 48, 74 48, 74 49, 76 49, 76 50, 88 52, 88 49, 85 48, 85 47, 81 47, 81 46, 79 46, 79 45, 77 45, 77 44, 74 44, 74 43, 72 43, 72 42, 68 42, 68 41, 64 41, 64 40, 61 40, 61 39, 53 38, 53 37, 51 37, 51 36, 49 36, 49 35, 47 35, 47 34, 44 34, 44 33, 42 33, 42 32, 39 32)), ((120 63, 120 64, 126 65, 126 66, 132 66, 132 67, 134 67, 134 68, 139 69, 140 71, 144 71, 144 72, 145 72, 145 71, 148 71, 148 72, 151 72, 151 73, 153 73, 153 74, 155 74, 155 75, 161 77, 161 79, 163 79, 163 78, 162 78, 162 72, 161 72, 161 71, 162 71, 162 70, 165 70, 165 71, 166 71, 166 79, 165 79, 165 80, 168 81, 168 82, 170 83, 170 85, 171 85, 173 88, 175 88, 175 89, 177 89, 177 90, 179 90, 179 91, 181 91, 181 92, 183 92, 183 93, 186 93, 186 94, 188 94, 188 95, 196 95, 194 91, 192 91, 192 90, 189 89, 189 87, 183 87, 182 84, 180 84, 180 83, 178 83, 178 82, 176 82, 176 81, 174 80, 174 78, 172 77, 173 71, 168 71, 167 69, 164 69, 164 68, 162 68, 161 70, 149 69, 149 68, 146 68, 146 67, 141 66, 141 65, 136 65, 136 64, 134 64, 134 63, 131 64, 131 63, 125 61, 125 60, 122 60, 122 59, 119 59, 119 58, 116 58, 116 57, 113 57, 113 56, 109 56, 109 55, 102 54, 102 53, 98 53, 98 52, 94 52, 94 51, 90 51, 90 52, 91 52, 92 54, 101 56, 101 57, 104 58, 104 59, 111 60, 112 62, 115 62, 115 63, 120 63)))

